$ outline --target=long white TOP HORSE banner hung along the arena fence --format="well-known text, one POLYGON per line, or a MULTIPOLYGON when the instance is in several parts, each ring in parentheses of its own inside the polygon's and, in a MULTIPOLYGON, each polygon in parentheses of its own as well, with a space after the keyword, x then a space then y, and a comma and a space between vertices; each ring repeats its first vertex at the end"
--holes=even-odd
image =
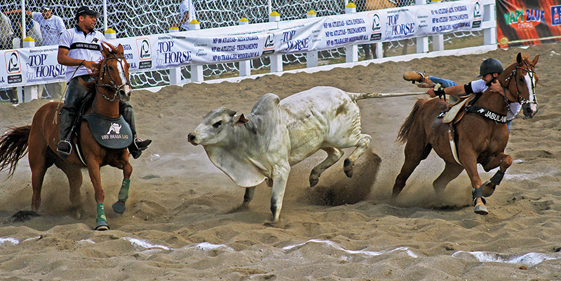
MULTIPOLYGON (((212 29, 119 38, 130 71, 220 64, 293 53, 330 50, 353 44, 379 43, 454 31, 481 29, 480 1, 407 6, 304 20, 250 24, 241 34, 214 35, 212 29), (268 29, 267 29, 268 27, 268 29)), ((2 50, 0 88, 64 80, 57 46, 2 50)))

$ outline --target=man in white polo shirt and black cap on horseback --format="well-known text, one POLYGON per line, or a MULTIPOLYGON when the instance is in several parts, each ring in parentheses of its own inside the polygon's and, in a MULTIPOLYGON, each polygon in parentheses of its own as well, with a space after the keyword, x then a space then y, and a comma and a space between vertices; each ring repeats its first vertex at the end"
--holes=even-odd
MULTIPOLYGON (((102 59, 101 43, 107 41, 100 31, 93 29, 100 16, 101 14, 92 8, 81 6, 76 11, 76 27, 66 29, 60 35, 58 63, 67 66, 66 80, 68 83, 65 105, 60 109, 60 142, 57 151, 62 159, 68 157, 72 151, 72 125, 84 99, 88 96, 88 90, 80 85, 78 79, 86 82, 94 80, 90 73, 95 69, 96 63, 102 59)), ((135 141, 128 147, 128 150, 133 158, 137 159, 151 140, 142 141, 137 138, 135 117, 130 103, 119 101, 119 113, 123 115, 133 131, 135 141)))

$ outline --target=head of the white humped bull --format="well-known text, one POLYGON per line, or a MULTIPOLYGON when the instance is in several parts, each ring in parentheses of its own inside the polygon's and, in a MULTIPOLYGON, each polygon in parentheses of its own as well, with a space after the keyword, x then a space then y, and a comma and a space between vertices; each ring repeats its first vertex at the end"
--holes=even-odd
POLYGON ((233 124, 247 122, 243 114, 236 115, 236 111, 222 106, 208 113, 203 122, 187 135, 187 141, 192 145, 215 145, 227 138, 227 127, 233 124))

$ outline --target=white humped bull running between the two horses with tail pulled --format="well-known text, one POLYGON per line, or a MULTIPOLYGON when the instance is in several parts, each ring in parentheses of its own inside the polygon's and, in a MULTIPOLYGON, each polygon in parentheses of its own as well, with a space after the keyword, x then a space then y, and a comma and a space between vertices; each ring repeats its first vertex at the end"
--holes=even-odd
POLYGON ((354 146, 344 161, 344 172, 351 178, 353 164, 372 140, 360 132, 356 101, 377 95, 347 93, 334 87, 314 87, 282 101, 276 94, 265 94, 247 117, 215 108, 187 139, 193 145, 203 145, 210 161, 237 185, 249 187, 243 207, 250 203, 255 186, 268 179, 267 184, 273 187, 273 222, 277 222, 290 166, 325 150, 327 159, 310 174, 313 187, 321 173, 343 156, 342 148, 354 146))

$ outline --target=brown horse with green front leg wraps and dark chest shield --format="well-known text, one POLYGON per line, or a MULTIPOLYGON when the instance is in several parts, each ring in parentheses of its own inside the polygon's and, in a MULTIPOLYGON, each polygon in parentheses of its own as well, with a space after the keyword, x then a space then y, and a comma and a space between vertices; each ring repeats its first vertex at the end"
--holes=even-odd
MULTIPOLYGON (((116 120, 119 118, 119 100, 128 101, 132 92, 128 80, 129 64, 123 57, 122 45, 119 44, 119 47, 114 48, 108 43, 103 43, 102 49, 104 58, 93 73, 95 82, 81 82, 94 96, 86 115, 93 113, 116 120)), ((59 141, 59 107, 60 104, 57 102, 46 103, 37 110, 31 125, 8 129, 1 136, 0 170, 9 166, 8 178, 11 177, 19 159, 25 156, 26 150, 29 150, 29 166, 32 171, 33 187, 31 206, 32 212, 36 212, 41 205, 43 178, 47 168, 53 164, 67 175, 70 185, 70 201, 74 208, 81 210, 81 168, 87 167, 95 190, 95 202, 97 203, 97 226, 95 229, 107 230, 109 226, 104 215, 103 201, 105 194, 101 185, 100 168, 110 165, 123 170, 124 179, 119 192, 119 201, 114 204, 113 208, 116 212, 124 212, 124 204, 128 198, 130 175, 133 173, 133 166, 128 163, 128 150, 126 148, 109 149, 101 146, 95 141, 92 131, 88 127, 88 122, 82 120, 79 124, 79 134, 73 140, 76 144, 74 145, 75 149, 72 150, 67 159, 61 159, 56 152, 59 141)))

